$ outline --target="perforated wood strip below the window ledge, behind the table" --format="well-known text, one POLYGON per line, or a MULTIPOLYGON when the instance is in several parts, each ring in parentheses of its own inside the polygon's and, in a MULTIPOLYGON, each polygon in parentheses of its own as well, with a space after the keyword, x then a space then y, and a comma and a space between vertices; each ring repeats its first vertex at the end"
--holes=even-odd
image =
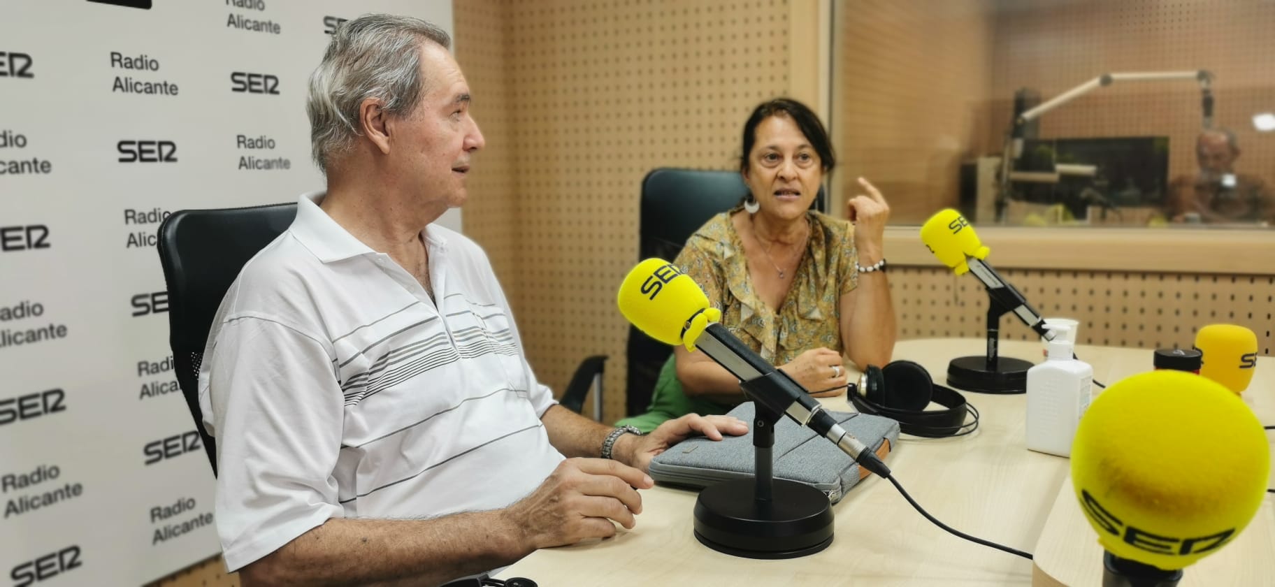
MULTIPOLYGON (((1000 270, 1047 317, 1080 321, 1077 341, 1145 349, 1190 348, 1201 326, 1227 322, 1257 334, 1261 354, 1275 348, 1275 278, 1108 271, 1000 270)), ((947 269, 895 267, 891 293, 900 337, 982 337, 987 293, 947 269)), ((1005 340, 1037 339, 1014 316, 1001 318, 1005 340)), ((1148 355, 1150 365, 1150 355, 1148 355)))

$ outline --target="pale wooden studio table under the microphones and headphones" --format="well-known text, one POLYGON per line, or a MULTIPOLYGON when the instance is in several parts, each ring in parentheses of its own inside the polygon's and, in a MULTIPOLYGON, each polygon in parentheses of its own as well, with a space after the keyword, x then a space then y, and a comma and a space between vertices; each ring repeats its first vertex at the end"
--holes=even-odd
MULTIPOLYGON (((942 383, 947 362, 954 357, 982 354, 984 341, 974 339, 909 340, 898 344, 894 358, 924 365, 942 383)), ((1034 341, 1005 341, 1001 353, 1040 360, 1042 345, 1034 341)), ((1076 354, 1094 365, 1094 378, 1111 383, 1151 369, 1151 350, 1085 346, 1076 354)), ((1275 424, 1275 360, 1261 358, 1246 401, 1264 423, 1275 424)), ((1095 391, 1098 391, 1095 388, 1095 391)), ((696 493, 657 486, 643 492, 644 513, 634 530, 620 528, 608 540, 546 549, 507 568, 501 577, 528 577, 544 586, 597 584, 765 584, 765 586, 994 586, 1099 584, 1100 553, 1096 535, 1056 503, 1070 494, 1070 461, 1028 451, 1024 446, 1025 396, 965 393, 983 414, 977 433, 960 438, 921 439, 901 437, 886 460, 895 477, 931 514, 956 530, 1020 550, 1035 551, 1047 521, 1054 536, 1077 548, 1047 544, 1052 567, 961 540, 933 526, 914 511, 889 481, 864 479, 834 507, 835 539, 826 550, 789 560, 752 560, 708 549, 692 535, 696 493), (1071 565, 1077 556, 1093 556, 1089 579, 1085 568, 1067 576, 1057 567, 1071 565), (1053 573, 1053 574, 1051 574, 1053 573), (1054 578, 1054 576, 1058 576, 1054 578), (1077 578, 1079 577, 1079 578, 1077 578), (723 583, 727 581, 729 583, 723 583), (1072 581, 1079 581, 1072 583, 1072 581)), ((826 407, 853 411, 845 397, 820 400, 826 407)), ((932 406, 933 407, 933 406, 932 406)), ((1070 500, 1075 503, 1074 499, 1070 500)), ((1241 539, 1271 534, 1275 518, 1270 499, 1241 539)), ((1075 508, 1079 513, 1079 508, 1075 508)), ((1211 559, 1220 567, 1235 558, 1241 540, 1211 559), (1229 553, 1229 554, 1228 554, 1229 553)), ((1266 544, 1266 542, 1261 542, 1266 544)), ((1275 553, 1275 550, 1267 550, 1275 553)), ((1275 569, 1275 556, 1241 560, 1252 568, 1275 569)), ((1210 559, 1205 559, 1207 563, 1210 559)), ((1039 562, 1038 562, 1039 563, 1039 562)), ((1201 564, 1204 564, 1201 563, 1201 564)), ((1075 564, 1075 567, 1085 567, 1075 564)), ((1266 569, 1270 581, 1275 570, 1266 569)), ((1187 569, 1187 581, 1192 579, 1187 569)), ((1211 576, 1209 584, 1248 584, 1211 576), (1219 582, 1221 581, 1221 582, 1219 582)), ((1183 581, 1186 587, 1187 581, 1183 581)), ((1205 583, 1200 583, 1205 584, 1205 583)))

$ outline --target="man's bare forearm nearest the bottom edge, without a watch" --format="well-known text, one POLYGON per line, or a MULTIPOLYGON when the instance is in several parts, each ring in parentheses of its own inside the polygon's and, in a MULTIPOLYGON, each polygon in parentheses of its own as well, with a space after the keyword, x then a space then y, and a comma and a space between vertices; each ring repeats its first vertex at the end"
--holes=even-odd
POLYGON ((240 572, 245 586, 440 584, 532 551, 500 511, 435 520, 333 518, 240 572))

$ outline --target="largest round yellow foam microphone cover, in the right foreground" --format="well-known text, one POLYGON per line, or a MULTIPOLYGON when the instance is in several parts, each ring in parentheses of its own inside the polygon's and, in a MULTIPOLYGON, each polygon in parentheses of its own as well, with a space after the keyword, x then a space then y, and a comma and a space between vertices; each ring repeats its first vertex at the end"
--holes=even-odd
POLYGON ((1234 540, 1266 497, 1269 469, 1265 430, 1244 401, 1179 371, 1113 383, 1071 447, 1076 499, 1098 541, 1165 570, 1234 540))

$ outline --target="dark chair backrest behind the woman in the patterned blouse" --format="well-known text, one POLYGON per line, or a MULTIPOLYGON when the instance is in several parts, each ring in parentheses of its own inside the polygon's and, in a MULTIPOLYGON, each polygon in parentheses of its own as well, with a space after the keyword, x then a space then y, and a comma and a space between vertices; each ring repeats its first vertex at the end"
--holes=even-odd
MULTIPOLYGON (((736 206, 748 194, 748 186, 737 171, 705 171, 658 168, 641 182, 639 215, 639 258, 660 257, 672 261, 691 237, 714 214, 736 206)), ((815 210, 824 206, 824 188, 819 188, 815 210)), ((673 349, 636 327, 629 329, 625 382, 625 407, 629 415, 646 411, 659 369, 673 349)))

